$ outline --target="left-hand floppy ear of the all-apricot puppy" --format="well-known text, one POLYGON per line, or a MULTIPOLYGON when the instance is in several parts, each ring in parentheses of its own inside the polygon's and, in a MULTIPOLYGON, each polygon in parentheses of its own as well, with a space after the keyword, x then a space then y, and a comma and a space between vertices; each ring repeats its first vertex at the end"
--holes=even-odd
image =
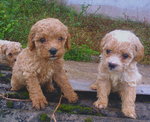
POLYGON ((31 51, 35 48, 34 37, 35 37, 35 33, 31 29, 29 36, 28 36, 28 47, 31 51))

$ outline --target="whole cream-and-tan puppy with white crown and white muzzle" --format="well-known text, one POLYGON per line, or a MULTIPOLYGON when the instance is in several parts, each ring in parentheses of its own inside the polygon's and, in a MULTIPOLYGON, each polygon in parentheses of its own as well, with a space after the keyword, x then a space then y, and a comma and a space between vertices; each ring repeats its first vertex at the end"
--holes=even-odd
POLYGON ((136 82, 141 80, 136 64, 144 55, 143 45, 132 32, 114 30, 102 39, 101 49, 97 80, 91 85, 92 89, 97 89, 95 107, 106 108, 111 90, 118 91, 122 112, 136 118, 136 82))

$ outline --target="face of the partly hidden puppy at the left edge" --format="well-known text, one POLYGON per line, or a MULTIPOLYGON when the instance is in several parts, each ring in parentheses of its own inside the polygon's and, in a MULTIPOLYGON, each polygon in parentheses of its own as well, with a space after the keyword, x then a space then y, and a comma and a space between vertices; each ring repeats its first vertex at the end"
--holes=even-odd
POLYGON ((7 45, 5 47, 5 55, 6 60, 8 61, 9 65, 12 67, 17 59, 18 54, 21 52, 22 48, 20 43, 14 43, 12 45, 7 45))

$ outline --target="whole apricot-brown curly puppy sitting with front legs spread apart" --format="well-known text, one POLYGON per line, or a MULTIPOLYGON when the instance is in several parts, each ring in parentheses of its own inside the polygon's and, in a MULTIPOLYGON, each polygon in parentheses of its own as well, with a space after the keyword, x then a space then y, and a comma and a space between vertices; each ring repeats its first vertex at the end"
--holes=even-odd
POLYGON ((69 37, 67 27, 58 19, 40 20, 31 28, 27 48, 17 57, 12 72, 12 90, 26 86, 36 109, 44 108, 47 104, 41 85, 51 91, 52 80, 69 102, 78 99, 63 69, 65 48, 70 47, 69 37))

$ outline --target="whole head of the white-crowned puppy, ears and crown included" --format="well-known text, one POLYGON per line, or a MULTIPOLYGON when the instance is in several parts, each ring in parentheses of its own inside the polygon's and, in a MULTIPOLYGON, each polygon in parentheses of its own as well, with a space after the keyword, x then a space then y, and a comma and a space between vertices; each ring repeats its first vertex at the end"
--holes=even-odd
POLYGON ((123 72, 143 57, 143 46, 129 31, 108 33, 101 42, 102 62, 110 72, 123 72))

